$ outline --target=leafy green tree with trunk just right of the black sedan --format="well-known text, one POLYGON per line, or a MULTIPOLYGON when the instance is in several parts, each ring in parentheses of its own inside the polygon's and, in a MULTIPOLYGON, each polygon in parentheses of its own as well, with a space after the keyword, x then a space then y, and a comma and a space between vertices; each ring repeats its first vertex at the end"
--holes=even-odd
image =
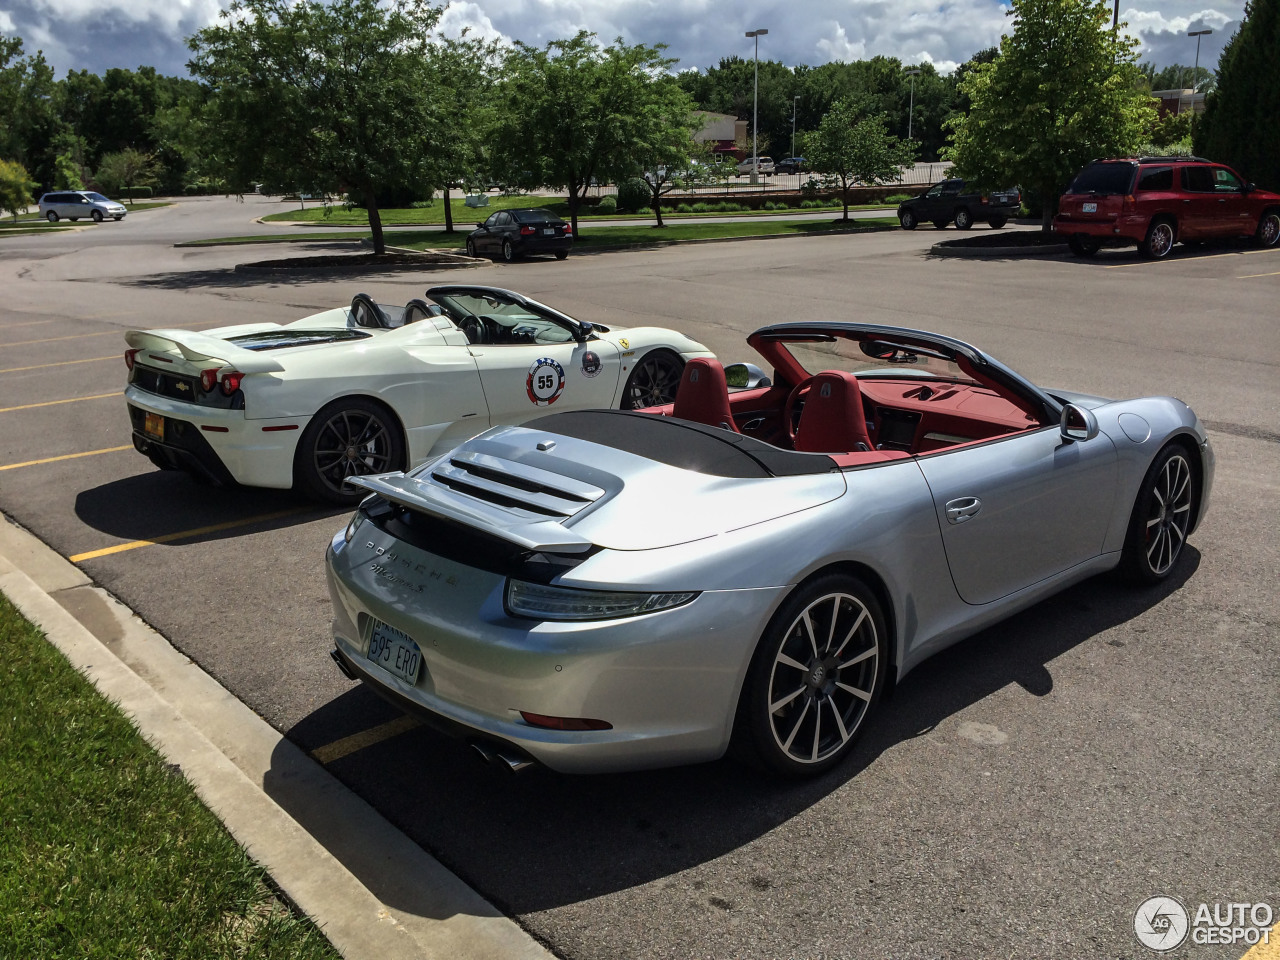
POLYGON ((566 191, 576 234, 591 182, 640 173, 637 145, 666 143, 675 124, 687 123, 673 115, 673 84, 664 76, 673 61, 662 50, 621 38, 600 47, 586 31, 544 49, 516 44, 494 138, 494 163, 506 169, 495 173, 566 191))

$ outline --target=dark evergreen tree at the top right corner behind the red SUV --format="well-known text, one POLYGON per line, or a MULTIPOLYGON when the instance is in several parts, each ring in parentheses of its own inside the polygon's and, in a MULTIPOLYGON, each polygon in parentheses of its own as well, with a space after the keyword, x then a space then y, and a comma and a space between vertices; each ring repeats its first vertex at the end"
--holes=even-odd
POLYGON ((1196 152, 1280 189, 1280 3, 1249 0, 1217 61, 1217 90, 1196 124, 1196 152))

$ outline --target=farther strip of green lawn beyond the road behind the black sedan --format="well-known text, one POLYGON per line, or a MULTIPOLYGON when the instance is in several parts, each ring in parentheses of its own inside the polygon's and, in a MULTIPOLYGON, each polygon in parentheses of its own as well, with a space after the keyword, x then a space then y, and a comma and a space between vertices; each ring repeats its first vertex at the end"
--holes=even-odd
MULTIPOLYGON (((690 204, 701 202, 698 197, 690 197, 690 204)), ((719 201, 716 201, 719 202, 719 201)), ((557 216, 568 219, 568 204, 559 197, 536 197, 536 196, 518 196, 518 197, 489 197, 489 206, 485 207, 468 207, 461 200, 452 200, 451 205, 453 207, 453 225, 454 228, 470 228, 471 224, 484 220, 489 214, 495 210, 509 210, 512 207, 544 207, 550 210, 557 216)), ((677 214, 672 210, 663 210, 663 219, 686 219, 698 216, 792 216, 797 212, 823 212, 826 210, 838 210, 840 204, 833 202, 819 210, 800 210, 799 207, 791 207, 787 210, 735 210, 735 211, 708 211, 705 214, 677 214)), ((850 206, 850 210, 884 210, 888 209, 884 204, 864 204, 859 206, 850 206)), ((383 219, 384 227, 416 227, 416 225, 429 225, 429 224, 443 224, 444 223, 444 201, 436 200, 431 206, 428 207, 413 207, 413 209, 390 209, 379 211, 383 219)), ((590 221, 591 219, 603 220, 652 220, 653 211, 644 210, 636 214, 595 214, 594 207, 584 206, 579 211, 579 220, 590 221)), ((265 223, 307 223, 328 227, 369 227, 369 215, 361 210, 347 210, 340 204, 323 207, 314 206, 306 210, 283 210, 278 214, 268 214, 262 218, 265 223)))

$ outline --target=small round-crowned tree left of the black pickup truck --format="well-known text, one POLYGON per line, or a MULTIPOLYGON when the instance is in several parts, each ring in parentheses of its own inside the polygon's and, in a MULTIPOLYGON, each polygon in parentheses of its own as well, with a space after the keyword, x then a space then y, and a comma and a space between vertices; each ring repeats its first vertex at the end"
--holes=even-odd
POLYGON ((804 138, 804 155, 818 173, 840 183, 849 219, 849 191, 855 183, 887 183, 901 177, 901 166, 915 157, 915 143, 899 140, 884 118, 870 116, 867 101, 845 97, 836 101, 818 129, 804 138))

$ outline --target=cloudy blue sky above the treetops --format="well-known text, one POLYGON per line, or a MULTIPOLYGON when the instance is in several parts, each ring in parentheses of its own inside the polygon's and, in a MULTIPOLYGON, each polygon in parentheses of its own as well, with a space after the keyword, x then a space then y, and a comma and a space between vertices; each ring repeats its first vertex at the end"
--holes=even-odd
MULTIPOLYGON (((0 33, 44 50, 61 77, 69 69, 152 65, 186 74, 184 37, 216 19, 225 0, 0 0, 0 33)), ((1243 0, 1121 0, 1120 15, 1160 67, 1190 64, 1188 29, 1208 27, 1201 65, 1215 67, 1243 0)), ((667 44, 681 69, 751 55, 742 33, 764 27, 760 58, 787 65, 856 60, 877 54, 928 60, 950 72, 1007 29, 998 0, 453 0, 443 28, 541 45, 585 28, 602 38, 667 44)))

